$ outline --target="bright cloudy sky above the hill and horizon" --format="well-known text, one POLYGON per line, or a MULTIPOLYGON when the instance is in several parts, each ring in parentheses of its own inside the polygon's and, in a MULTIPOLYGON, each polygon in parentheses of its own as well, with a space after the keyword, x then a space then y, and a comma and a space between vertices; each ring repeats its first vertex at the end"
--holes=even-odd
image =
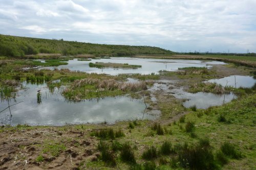
POLYGON ((255 0, 0 0, 0 34, 256 52, 255 0))

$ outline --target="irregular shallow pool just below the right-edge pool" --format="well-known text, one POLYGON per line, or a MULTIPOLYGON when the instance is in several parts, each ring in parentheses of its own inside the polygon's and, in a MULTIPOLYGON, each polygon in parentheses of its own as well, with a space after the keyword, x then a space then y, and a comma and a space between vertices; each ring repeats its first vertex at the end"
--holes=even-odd
POLYGON ((230 94, 214 94, 206 92, 189 93, 182 89, 173 89, 174 96, 178 99, 187 99, 183 106, 189 108, 196 106, 198 109, 207 109, 211 106, 221 106, 225 103, 237 99, 233 93, 230 94))

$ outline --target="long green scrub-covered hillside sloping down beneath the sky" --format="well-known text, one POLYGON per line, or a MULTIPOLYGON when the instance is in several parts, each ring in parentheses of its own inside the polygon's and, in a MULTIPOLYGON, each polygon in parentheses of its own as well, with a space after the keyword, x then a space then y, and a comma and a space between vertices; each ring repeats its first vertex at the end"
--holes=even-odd
POLYGON ((38 53, 95 56, 133 56, 151 54, 173 54, 172 51, 152 46, 106 45, 63 39, 39 39, 0 35, 0 56, 23 57, 38 53))

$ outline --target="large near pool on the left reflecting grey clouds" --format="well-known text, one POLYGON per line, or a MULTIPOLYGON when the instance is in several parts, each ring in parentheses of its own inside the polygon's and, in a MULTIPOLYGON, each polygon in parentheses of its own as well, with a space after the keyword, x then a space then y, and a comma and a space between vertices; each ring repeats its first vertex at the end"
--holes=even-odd
MULTIPOLYGON (((68 103, 61 96, 62 89, 56 89, 51 94, 46 84, 33 85, 24 83, 29 87, 26 91, 20 91, 19 96, 11 101, 10 105, 19 103, 11 107, 12 117, 9 109, 0 114, 2 125, 54 125, 82 123, 115 123, 118 120, 126 119, 153 119, 154 115, 143 114, 145 104, 143 100, 131 99, 127 96, 116 98, 104 98, 68 103), (37 90, 40 90, 41 100, 37 100, 37 90), (11 122, 10 122, 11 121, 11 122)), ((0 110, 8 107, 8 103, 2 101, 0 110)))

